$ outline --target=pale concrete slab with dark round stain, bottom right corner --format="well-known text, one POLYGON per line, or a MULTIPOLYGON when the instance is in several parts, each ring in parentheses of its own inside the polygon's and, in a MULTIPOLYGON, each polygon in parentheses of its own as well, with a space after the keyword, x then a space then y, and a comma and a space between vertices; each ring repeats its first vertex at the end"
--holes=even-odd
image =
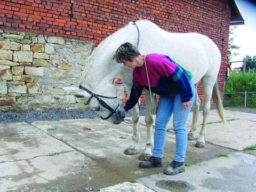
POLYGON ((256 191, 256 157, 237 152, 186 167, 184 173, 150 175, 136 181, 154 191, 256 191))

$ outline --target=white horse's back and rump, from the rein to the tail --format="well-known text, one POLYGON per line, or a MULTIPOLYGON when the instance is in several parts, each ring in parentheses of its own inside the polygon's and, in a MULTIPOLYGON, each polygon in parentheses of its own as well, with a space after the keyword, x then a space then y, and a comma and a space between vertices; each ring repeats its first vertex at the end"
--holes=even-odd
POLYGON ((209 37, 198 33, 170 33, 149 21, 142 24, 138 25, 141 30, 141 54, 168 55, 193 74, 194 83, 204 76, 217 78, 221 55, 217 45, 209 37))

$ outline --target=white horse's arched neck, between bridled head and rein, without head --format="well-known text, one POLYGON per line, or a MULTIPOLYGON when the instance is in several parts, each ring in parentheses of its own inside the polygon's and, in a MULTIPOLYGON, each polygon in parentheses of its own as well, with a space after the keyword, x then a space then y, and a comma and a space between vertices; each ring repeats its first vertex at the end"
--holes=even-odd
POLYGON ((131 42, 137 46, 137 33, 137 28, 130 23, 101 42, 88 58, 81 81, 78 84, 90 87, 91 90, 100 89, 106 83, 111 84, 113 78, 124 69, 121 63, 112 59, 115 51, 125 42, 131 42))

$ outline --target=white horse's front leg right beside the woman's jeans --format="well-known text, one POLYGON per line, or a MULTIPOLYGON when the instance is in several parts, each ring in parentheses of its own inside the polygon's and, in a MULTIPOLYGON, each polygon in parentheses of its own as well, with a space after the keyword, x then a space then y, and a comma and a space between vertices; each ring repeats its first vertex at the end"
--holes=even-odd
MULTIPOLYGON (((139 156, 141 161, 147 161, 149 157, 153 154, 151 149, 154 146, 154 137, 153 137, 153 115, 151 114, 151 99, 148 90, 145 90, 145 97, 146 97, 146 114, 145 114, 145 123, 147 126, 147 139, 146 139, 146 147, 142 151, 142 154, 139 156)), ((156 103, 156 95, 154 94, 154 100, 156 103)))

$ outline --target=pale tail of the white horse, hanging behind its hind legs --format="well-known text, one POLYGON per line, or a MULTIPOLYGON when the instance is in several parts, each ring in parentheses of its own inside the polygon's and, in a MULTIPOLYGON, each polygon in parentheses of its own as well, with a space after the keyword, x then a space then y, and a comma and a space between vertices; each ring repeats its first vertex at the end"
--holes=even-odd
POLYGON ((225 123, 226 125, 228 125, 228 123, 226 121, 225 114, 224 114, 224 108, 222 105, 221 95, 219 92, 219 86, 218 86, 217 81, 215 82, 214 87, 213 87, 212 100, 215 103, 215 107, 217 108, 217 113, 219 114, 222 122, 225 123))

